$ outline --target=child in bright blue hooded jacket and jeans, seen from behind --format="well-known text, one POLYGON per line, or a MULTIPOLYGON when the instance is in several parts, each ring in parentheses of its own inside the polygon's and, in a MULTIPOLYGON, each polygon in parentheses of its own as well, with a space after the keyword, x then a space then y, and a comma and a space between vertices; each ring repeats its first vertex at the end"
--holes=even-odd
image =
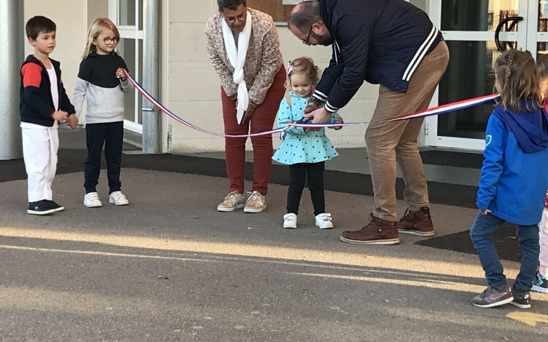
POLYGON ((487 277, 487 289, 472 299, 480 308, 510 303, 530 308, 529 291, 539 260, 538 224, 548 188, 548 115, 535 61, 510 50, 495 62, 495 86, 501 95, 489 117, 479 181, 479 214, 470 237, 487 277), (509 287, 491 235, 505 221, 517 225, 523 257, 509 287))

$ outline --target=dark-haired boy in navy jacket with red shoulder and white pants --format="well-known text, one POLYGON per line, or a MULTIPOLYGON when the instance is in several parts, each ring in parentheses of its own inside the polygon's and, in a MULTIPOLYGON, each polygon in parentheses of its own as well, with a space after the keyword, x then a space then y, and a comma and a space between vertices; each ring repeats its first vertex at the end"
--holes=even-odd
POLYGON ((55 23, 35 16, 25 29, 28 42, 35 48, 21 66, 19 103, 28 176, 27 213, 47 215, 64 210, 53 201, 52 192, 59 148, 58 122, 74 128, 78 119, 61 82, 59 62, 49 59, 55 49, 55 23))

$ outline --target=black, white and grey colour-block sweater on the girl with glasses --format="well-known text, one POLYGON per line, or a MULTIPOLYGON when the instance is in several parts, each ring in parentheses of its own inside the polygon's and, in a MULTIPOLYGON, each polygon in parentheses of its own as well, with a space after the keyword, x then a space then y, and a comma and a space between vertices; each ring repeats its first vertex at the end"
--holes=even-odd
POLYGON ((79 118, 84 98, 87 100, 86 124, 111 123, 124 120, 124 92, 132 85, 116 78, 118 68, 128 69, 121 56, 89 54, 80 63, 72 102, 79 118))

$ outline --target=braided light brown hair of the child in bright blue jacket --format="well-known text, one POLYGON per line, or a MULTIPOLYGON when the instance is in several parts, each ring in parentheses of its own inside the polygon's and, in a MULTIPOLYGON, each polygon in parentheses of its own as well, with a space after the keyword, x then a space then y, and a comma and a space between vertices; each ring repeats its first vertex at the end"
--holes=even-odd
POLYGON ((501 96, 497 104, 505 111, 533 111, 543 107, 539 72, 530 54, 514 49, 506 51, 496 59, 494 73, 501 96), (529 108, 527 102, 522 108, 521 100, 533 101, 533 108, 529 108))

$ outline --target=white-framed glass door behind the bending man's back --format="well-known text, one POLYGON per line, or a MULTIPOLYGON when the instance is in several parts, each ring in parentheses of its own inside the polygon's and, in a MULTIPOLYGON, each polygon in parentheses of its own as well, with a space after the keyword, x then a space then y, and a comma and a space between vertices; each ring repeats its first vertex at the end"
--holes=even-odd
MULTIPOLYGON (((450 52, 447 71, 431 106, 492 94, 493 64, 500 55, 495 30, 501 20, 522 16, 524 19, 513 27, 512 22, 505 24, 511 31, 501 32, 499 38, 503 45, 526 50, 530 3, 531 0, 429 1, 430 18, 441 28, 450 52)), ((487 119, 492 112, 493 103, 487 103, 427 118, 426 144, 483 150, 487 119)))

